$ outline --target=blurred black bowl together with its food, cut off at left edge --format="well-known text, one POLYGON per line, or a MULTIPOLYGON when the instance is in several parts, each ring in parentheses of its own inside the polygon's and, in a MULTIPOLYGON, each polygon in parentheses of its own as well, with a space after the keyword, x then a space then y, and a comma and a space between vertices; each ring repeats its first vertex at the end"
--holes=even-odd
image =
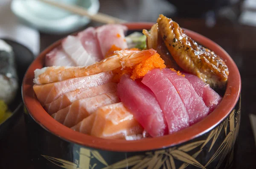
MULTIPOLYGON (((12 96, 7 100, 6 98, 10 97, 8 94, 3 94, 0 97, 0 139, 3 138, 6 135, 6 133, 8 133, 12 129, 12 127, 17 123, 20 115, 22 114, 23 104, 22 104, 21 90, 20 90, 21 83, 23 80, 23 76, 26 73, 26 69, 29 67, 30 63, 34 60, 34 54, 32 53, 32 51, 30 51, 28 48, 21 45, 20 43, 17 43, 10 39, 2 39, 1 42, 2 44, 0 45, 0 51, 1 51, 0 54, 4 54, 2 56, 6 56, 6 53, 10 53, 10 52, 13 54, 12 56, 14 57, 13 59, 15 60, 15 63, 16 63, 15 69, 17 72, 17 75, 15 76, 15 81, 17 81, 18 84, 16 84, 17 89, 16 87, 14 90, 8 89, 8 87, 6 89, 4 88, 6 86, 2 85, 3 81, 0 81, 0 86, 1 86, 0 94, 3 94, 3 90, 9 90, 10 91, 9 95, 12 96), (5 45, 3 45, 3 41, 5 45), (3 53, 4 51, 5 53, 3 53), (6 96, 6 97, 3 97, 3 96, 6 96)), ((0 58, 3 58, 3 57, 0 57, 0 58)), ((1 64, 4 63, 3 59, 0 60, 0 63, 1 64)), ((12 63, 13 62, 9 62, 10 67, 13 67, 12 63)), ((6 64, 3 68, 8 68, 7 72, 11 73, 12 71, 9 71, 9 66, 6 66, 6 64)), ((0 74, 2 75, 3 73, 0 72, 0 74)), ((15 73, 11 73, 11 74, 15 74, 15 73)))

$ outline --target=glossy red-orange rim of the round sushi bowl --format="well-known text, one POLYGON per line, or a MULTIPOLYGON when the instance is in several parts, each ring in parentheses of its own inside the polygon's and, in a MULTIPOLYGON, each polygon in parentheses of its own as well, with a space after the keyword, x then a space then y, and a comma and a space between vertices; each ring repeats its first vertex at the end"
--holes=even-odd
MULTIPOLYGON (((125 25, 128 26, 129 30, 142 30, 150 29, 153 23, 127 23, 125 25)), ((176 132, 174 134, 165 135, 158 138, 146 138, 138 141, 125 141, 117 139, 103 139, 90 135, 85 135, 80 132, 73 131, 70 128, 58 123, 58 121, 55 121, 55 119, 53 119, 39 103, 32 86, 34 70, 44 67, 45 55, 53 48, 60 45, 61 40, 55 42, 47 49, 45 49, 37 57, 37 59, 35 59, 35 61, 30 65, 29 69, 27 70, 22 85, 24 104, 27 107, 32 118, 45 130, 63 138, 64 140, 88 147, 93 147, 96 149, 105 149, 120 152, 136 152, 151 149, 161 149, 163 147, 173 146, 183 143, 185 141, 189 141, 199 135, 204 134, 205 132, 208 132, 209 130, 212 130, 212 128, 218 125, 227 117, 227 115, 229 115, 229 113, 233 110, 233 107, 235 107, 240 96, 241 78, 235 62, 233 61, 233 59, 231 59, 227 52, 224 51, 224 49, 222 49, 215 42, 212 42, 210 39, 207 39, 206 37, 193 31, 186 30, 186 33, 195 41, 211 49, 221 58, 223 58, 226 61, 226 64, 230 71, 227 82, 227 90, 219 106, 211 114, 209 114, 207 118, 198 122, 197 124, 194 124, 191 127, 187 127, 186 129, 176 132)))

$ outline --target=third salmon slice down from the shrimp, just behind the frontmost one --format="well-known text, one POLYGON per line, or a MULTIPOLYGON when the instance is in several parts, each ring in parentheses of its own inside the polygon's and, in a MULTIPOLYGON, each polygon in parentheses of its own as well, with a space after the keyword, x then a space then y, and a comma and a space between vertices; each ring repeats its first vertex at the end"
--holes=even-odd
POLYGON ((116 93, 105 93, 91 98, 74 101, 70 106, 52 114, 52 117, 67 127, 72 127, 95 112, 99 107, 118 103, 116 93))

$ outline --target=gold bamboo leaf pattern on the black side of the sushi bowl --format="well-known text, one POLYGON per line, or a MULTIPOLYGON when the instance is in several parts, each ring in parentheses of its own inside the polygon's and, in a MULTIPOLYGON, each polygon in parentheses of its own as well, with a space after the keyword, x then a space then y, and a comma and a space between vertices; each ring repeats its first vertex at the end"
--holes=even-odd
POLYGON ((94 169, 97 166, 97 163, 91 164, 90 160, 92 158, 96 158, 99 163, 105 165, 103 169, 122 169, 128 167, 131 167, 131 169, 176 169, 175 159, 183 162, 179 169, 185 169, 189 165, 196 166, 201 169, 207 169, 207 166, 209 166, 210 163, 212 163, 216 158, 218 158, 218 156, 221 155, 221 158, 215 167, 218 169, 227 154, 231 152, 226 164, 226 167, 228 167, 233 161, 233 145, 235 144, 239 132, 239 124, 241 118, 240 107, 241 102, 239 102, 239 110, 236 112, 234 109, 221 124, 219 124, 209 133, 205 140, 195 141, 180 147, 170 147, 168 149, 145 152, 145 155, 135 155, 111 165, 105 161, 105 159, 98 151, 90 150, 87 148, 80 148, 79 162, 77 163, 72 163, 70 161, 65 161, 59 158, 52 158, 46 155, 42 156, 55 165, 64 169, 94 169), (227 133, 228 124, 230 131, 227 133), (214 155, 212 155, 206 164, 203 165, 199 163, 196 160, 197 156, 209 142, 211 145, 208 149, 208 152, 211 151, 222 130, 224 130, 226 135, 224 141, 221 143, 214 155), (198 151, 196 151, 193 155, 189 155, 188 152, 196 150, 196 148, 199 148, 198 151))

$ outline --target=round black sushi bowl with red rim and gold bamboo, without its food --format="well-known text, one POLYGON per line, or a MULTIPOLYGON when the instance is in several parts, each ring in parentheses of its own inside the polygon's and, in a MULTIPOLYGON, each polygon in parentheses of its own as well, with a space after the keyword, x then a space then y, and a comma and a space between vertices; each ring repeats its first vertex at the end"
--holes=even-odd
MULTIPOLYGON (((152 23, 127 23, 129 31, 150 29, 152 23)), ((239 70, 216 43, 186 30, 198 43, 226 60, 230 70, 227 89, 219 106, 204 120, 159 138, 139 141, 109 140, 75 132, 55 121, 33 91, 34 70, 44 67, 44 57, 55 42, 29 67, 23 80, 23 101, 33 162, 44 169, 174 169, 229 168, 233 163, 240 124, 239 70)))

